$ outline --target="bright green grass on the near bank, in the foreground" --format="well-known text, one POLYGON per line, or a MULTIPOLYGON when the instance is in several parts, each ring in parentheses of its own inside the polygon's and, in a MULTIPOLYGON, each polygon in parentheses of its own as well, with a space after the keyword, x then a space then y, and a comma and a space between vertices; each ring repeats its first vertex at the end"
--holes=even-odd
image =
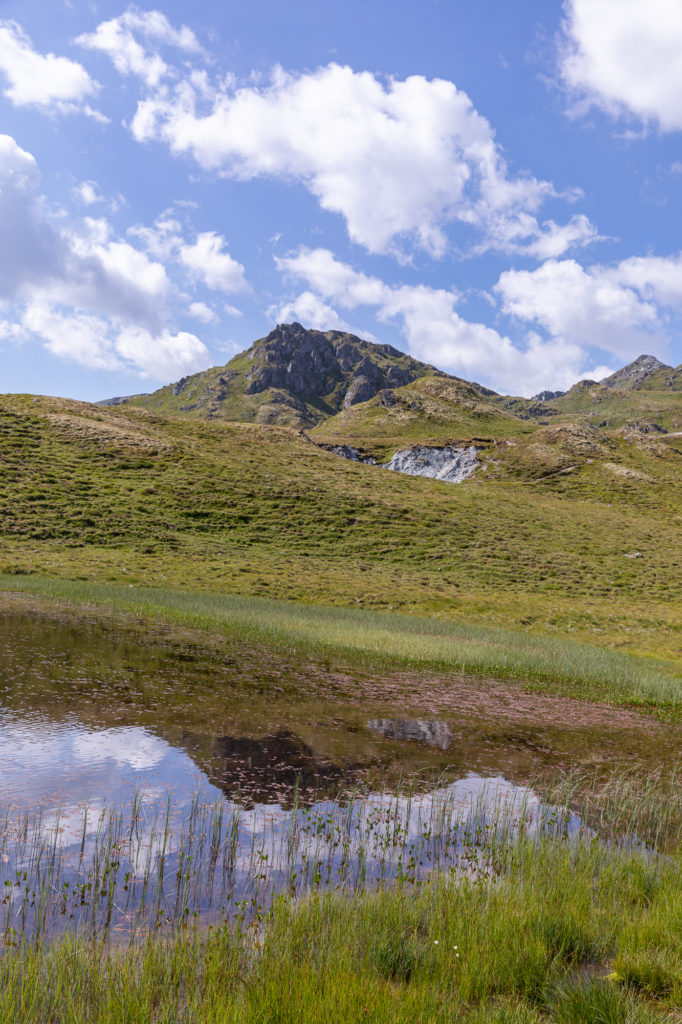
POLYGON ((282 893, 261 918, 146 931, 132 944, 68 935, 8 948, 0 1021, 679 1019, 680 853, 562 830, 505 835, 487 871, 282 893))

